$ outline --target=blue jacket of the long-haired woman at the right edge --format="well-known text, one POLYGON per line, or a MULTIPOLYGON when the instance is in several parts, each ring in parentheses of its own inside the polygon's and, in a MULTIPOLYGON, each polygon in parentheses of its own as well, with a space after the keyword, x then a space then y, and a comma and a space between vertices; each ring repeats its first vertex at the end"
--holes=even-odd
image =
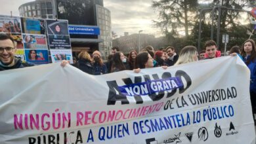
MULTIPOLYGON (((249 56, 247 58, 249 58, 249 56)), ((244 58, 244 62, 246 62, 247 58, 244 58)), ((250 62, 247 67, 251 72, 250 92, 256 93, 256 60, 254 60, 254 62, 250 62)))

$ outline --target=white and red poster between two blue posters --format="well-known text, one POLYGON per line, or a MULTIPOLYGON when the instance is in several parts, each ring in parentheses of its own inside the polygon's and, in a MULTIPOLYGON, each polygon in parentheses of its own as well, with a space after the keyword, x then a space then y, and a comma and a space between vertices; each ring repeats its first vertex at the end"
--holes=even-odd
POLYGON ((46 35, 32 35, 32 34, 22 34, 24 48, 32 49, 46 49, 47 41, 46 35))

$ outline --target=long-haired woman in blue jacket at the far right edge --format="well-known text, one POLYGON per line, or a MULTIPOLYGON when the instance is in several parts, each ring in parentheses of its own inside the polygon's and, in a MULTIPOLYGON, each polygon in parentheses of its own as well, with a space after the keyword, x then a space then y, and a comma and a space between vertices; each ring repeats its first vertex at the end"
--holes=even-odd
POLYGON ((251 95, 251 106, 253 113, 255 113, 256 106, 256 45, 253 39, 247 39, 243 46, 241 55, 244 58, 244 62, 251 72, 250 80, 250 95, 251 95))

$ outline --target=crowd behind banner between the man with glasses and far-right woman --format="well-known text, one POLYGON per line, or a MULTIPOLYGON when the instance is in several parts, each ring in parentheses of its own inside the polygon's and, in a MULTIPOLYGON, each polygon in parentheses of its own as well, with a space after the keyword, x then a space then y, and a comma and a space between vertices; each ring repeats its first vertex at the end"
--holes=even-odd
POLYGON ((167 69, 167 67, 172 65, 218 58, 220 56, 221 51, 217 50, 215 41, 210 40, 205 43, 205 50, 201 52, 198 52, 195 46, 185 46, 182 48, 180 54, 175 52, 175 47, 173 46, 160 48, 160 50, 155 50, 153 46, 146 46, 140 52, 131 50, 125 56, 117 46, 114 46, 112 48, 112 54, 108 56, 108 61, 105 63, 103 63, 98 50, 95 50, 92 55, 87 51, 82 51, 79 53, 78 58, 74 57, 74 64, 72 65, 85 73, 102 75, 124 70, 138 72, 140 71, 139 69, 151 67, 163 67, 163 69, 167 69))

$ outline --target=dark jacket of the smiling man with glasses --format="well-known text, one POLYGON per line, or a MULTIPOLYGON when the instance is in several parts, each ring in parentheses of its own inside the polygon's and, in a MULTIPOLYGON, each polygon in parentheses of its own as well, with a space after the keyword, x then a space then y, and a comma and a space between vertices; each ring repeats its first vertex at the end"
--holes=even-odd
POLYGON ((19 68, 24 68, 24 67, 32 67, 34 66, 35 63, 31 62, 22 62, 20 58, 14 58, 14 65, 11 67, 8 67, 6 65, 3 65, 3 63, 0 62, 0 71, 5 71, 9 69, 19 69, 19 68))

